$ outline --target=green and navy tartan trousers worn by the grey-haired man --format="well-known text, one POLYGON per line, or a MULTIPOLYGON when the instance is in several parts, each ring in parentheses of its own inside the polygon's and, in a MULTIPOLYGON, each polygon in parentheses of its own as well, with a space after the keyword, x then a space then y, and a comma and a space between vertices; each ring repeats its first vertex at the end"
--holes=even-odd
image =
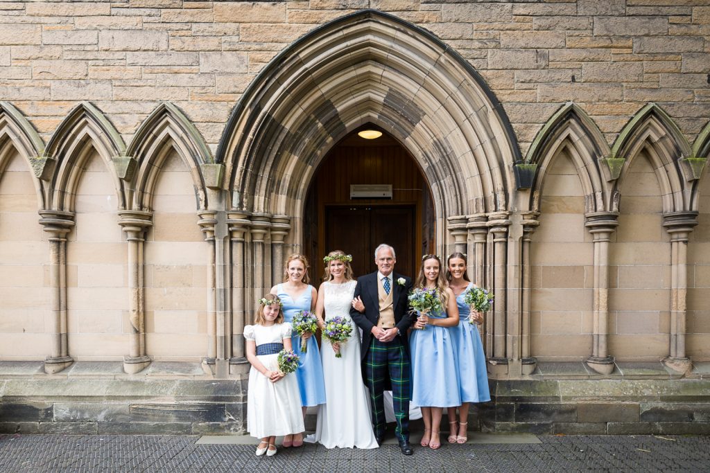
POLYGON ((399 337, 389 343, 374 338, 365 360, 365 377, 372 402, 372 424, 375 436, 385 434, 386 420, 382 393, 392 386, 393 408, 398 440, 409 440, 409 401, 411 399, 411 368, 399 337))

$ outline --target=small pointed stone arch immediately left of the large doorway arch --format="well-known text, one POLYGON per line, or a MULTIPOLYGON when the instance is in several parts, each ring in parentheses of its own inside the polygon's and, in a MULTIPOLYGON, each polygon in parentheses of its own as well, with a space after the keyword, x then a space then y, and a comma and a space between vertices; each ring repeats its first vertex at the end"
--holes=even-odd
POLYGON ((151 210, 153 188, 160 167, 170 149, 178 152, 190 170, 195 187, 196 207, 207 208, 207 195, 200 166, 214 162, 202 135, 180 108, 163 102, 146 118, 133 135, 126 154, 134 157, 138 168, 131 182, 129 201, 135 210, 151 210))

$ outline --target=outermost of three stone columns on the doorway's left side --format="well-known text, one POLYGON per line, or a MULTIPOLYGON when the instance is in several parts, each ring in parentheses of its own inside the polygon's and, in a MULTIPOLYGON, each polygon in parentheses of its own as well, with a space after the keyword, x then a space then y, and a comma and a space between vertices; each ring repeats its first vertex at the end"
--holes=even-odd
POLYGON ((232 338, 231 365, 246 365, 244 350, 244 319, 246 317, 246 298, 250 293, 246 290, 246 233, 249 232, 251 221, 249 213, 229 212, 226 223, 231 235, 231 284, 232 284, 232 338))

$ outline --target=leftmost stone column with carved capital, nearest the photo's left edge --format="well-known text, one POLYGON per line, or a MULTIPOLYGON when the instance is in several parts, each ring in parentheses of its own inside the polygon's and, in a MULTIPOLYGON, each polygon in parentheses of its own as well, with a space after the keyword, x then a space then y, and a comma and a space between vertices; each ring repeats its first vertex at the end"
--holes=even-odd
POLYGON ((74 213, 40 211, 40 224, 49 233, 49 277, 52 288, 52 335, 51 355, 45 357, 45 373, 53 374, 70 366, 74 360, 69 356, 67 340, 67 233, 74 226, 74 213))

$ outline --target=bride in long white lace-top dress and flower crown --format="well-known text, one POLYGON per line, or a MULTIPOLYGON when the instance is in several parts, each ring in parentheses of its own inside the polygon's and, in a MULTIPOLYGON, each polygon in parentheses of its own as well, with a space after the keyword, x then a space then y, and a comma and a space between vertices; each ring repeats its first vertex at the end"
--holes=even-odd
MULTIPOLYGON (((335 316, 350 320, 350 305, 355 292, 350 261, 342 251, 324 258, 325 282, 318 291, 315 313, 321 327, 335 316), (323 313, 325 312, 325 316, 323 313)), ((342 357, 335 357, 338 346, 323 340, 321 357, 325 377, 326 404, 320 406, 315 441, 326 448, 377 448, 372 430, 370 404, 360 367, 360 338, 356 326, 350 339, 339 343, 342 357)))

